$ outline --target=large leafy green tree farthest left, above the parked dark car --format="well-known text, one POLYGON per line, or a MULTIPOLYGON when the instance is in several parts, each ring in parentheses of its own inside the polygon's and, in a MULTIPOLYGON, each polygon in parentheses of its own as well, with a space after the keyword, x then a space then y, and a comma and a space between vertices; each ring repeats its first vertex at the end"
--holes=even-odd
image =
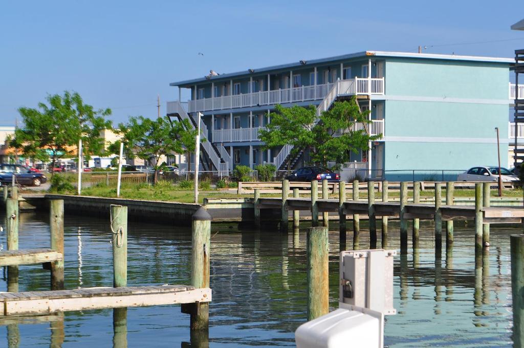
POLYGON ((20 149, 27 157, 55 164, 57 159, 71 155, 82 139, 84 154, 104 153, 102 129, 111 128, 111 109, 94 110, 84 104, 77 92, 48 95, 38 108, 20 107, 24 126, 15 130, 9 146, 20 149))

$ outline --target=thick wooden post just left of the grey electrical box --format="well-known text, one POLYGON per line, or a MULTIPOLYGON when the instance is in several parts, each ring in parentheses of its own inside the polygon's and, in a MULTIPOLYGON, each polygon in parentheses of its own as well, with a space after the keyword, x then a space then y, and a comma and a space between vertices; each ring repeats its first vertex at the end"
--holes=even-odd
POLYGON ((328 227, 308 231, 308 320, 329 312, 328 227))

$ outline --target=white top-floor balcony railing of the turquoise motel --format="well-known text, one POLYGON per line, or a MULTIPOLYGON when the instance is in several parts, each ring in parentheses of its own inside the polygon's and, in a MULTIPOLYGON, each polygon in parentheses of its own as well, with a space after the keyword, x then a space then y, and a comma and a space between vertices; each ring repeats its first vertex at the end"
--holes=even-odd
MULTIPOLYGON (((345 94, 384 94, 384 78, 341 80, 345 94), (347 88, 346 88, 347 87, 347 88)), ((333 83, 301 86, 273 91, 226 95, 188 101, 188 112, 226 110, 237 107, 285 104, 324 99, 333 83)))

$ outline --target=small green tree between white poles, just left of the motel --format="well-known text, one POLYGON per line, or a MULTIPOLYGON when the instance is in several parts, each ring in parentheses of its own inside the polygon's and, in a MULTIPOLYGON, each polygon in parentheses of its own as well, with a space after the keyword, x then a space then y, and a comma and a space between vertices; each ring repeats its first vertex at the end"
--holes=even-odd
POLYGON ((150 119, 144 116, 130 117, 129 122, 118 125, 117 132, 122 139, 110 146, 113 153, 118 153, 120 143, 124 143, 127 157, 138 157, 155 162, 155 179, 158 180, 158 169, 161 167, 160 157, 172 153, 181 154, 184 150, 195 150, 195 137, 198 131, 183 119, 171 123, 169 118, 150 119))

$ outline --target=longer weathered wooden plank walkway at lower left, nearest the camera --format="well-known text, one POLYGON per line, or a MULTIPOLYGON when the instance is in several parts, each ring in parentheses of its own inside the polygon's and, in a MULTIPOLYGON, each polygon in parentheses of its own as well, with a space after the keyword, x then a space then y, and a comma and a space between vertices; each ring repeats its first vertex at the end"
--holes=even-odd
POLYGON ((0 292, 2 316, 50 314, 101 308, 210 302, 211 289, 184 285, 84 288, 56 291, 0 292))

